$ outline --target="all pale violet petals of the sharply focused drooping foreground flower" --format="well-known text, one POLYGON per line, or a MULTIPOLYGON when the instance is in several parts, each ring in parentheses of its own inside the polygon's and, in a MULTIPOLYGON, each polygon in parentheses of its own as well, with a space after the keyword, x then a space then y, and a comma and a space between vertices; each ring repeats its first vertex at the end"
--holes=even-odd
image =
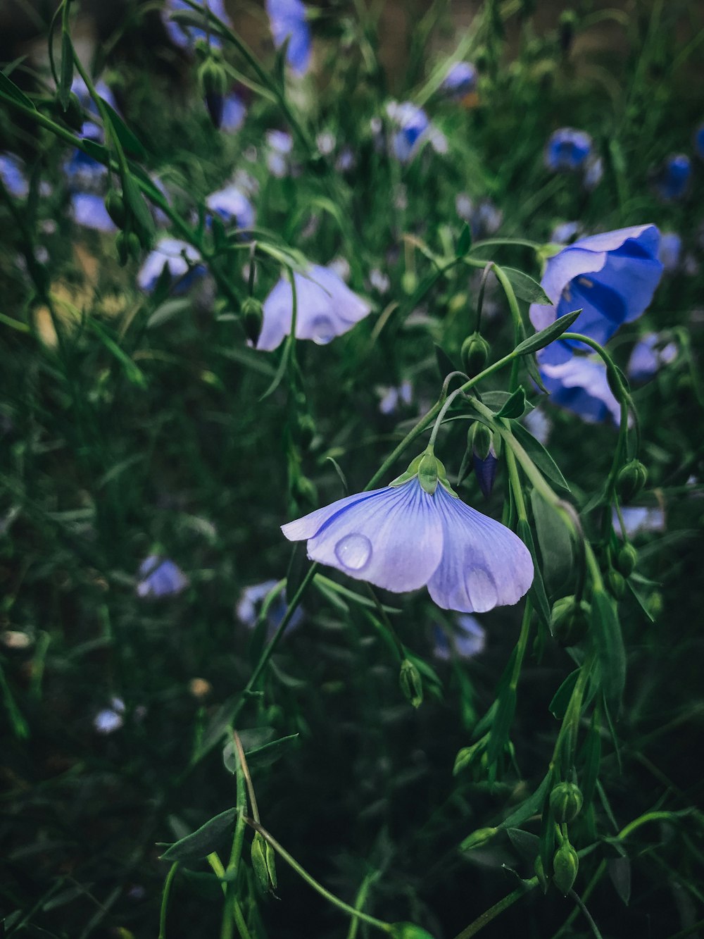
POLYGON ((332 502, 282 526, 308 557, 394 593, 424 584, 438 607, 483 612, 517 603, 533 579, 513 531, 418 477, 332 502))

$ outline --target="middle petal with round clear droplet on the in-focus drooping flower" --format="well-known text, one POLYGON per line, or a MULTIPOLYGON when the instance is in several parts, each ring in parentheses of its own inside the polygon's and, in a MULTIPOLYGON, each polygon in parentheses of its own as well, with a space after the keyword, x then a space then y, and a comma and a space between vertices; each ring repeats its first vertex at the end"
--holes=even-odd
POLYGON ((335 513, 309 540, 308 557, 403 593, 427 583, 442 542, 436 501, 414 479, 369 493, 335 513))

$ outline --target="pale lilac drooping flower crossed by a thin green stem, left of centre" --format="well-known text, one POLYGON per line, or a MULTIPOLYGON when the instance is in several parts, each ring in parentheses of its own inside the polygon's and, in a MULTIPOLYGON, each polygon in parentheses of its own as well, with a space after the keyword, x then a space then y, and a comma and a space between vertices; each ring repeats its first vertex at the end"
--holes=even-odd
MULTIPOLYGON (((325 346, 367 316, 369 303, 362 300, 329 268, 314 264, 305 274, 294 274, 296 284, 296 338, 312 339, 325 346)), ((256 347, 270 351, 291 331, 293 290, 282 278, 264 301, 264 321, 256 347)))

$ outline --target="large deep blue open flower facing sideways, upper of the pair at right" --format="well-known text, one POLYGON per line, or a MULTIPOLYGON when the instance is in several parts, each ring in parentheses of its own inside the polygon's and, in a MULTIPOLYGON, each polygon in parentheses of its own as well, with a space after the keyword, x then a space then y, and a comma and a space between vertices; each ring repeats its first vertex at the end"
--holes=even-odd
MULTIPOLYGON (((654 225, 620 228, 578 239, 548 258, 541 285, 552 305, 530 305, 530 321, 543 330, 559 316, 582 309, 572 331, 602 345, 623 323, 637 319, 660 282, 660 232, 654 225)), ((572 356, 559 340, 542 350, 541 362, 557 365, 572 356)))

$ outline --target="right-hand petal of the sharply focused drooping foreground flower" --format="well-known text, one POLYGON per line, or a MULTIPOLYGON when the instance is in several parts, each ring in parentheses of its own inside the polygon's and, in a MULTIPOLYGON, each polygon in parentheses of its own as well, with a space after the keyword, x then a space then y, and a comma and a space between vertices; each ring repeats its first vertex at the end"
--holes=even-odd
POLYGON ((464 613, 517 603, 533 581, 528 548, 505 525, 483 516, 442 486, 435 494, 442 521, 442 558, 428 591, 438 607, 464 613))

